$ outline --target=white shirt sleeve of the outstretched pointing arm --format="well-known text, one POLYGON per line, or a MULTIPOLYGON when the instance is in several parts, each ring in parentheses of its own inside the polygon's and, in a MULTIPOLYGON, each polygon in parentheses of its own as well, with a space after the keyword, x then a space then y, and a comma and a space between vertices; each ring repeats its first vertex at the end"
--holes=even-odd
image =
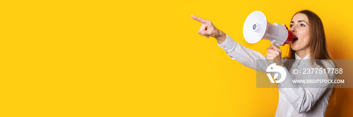
POLYGON ((269 62, 261 62, 262 65, 258 65, 258 67, 256 67, 256 60, 265 60, 266 57, 261 53, 246 48, 238 42, 234 41, 228 36, 228 34, 226 34, 226 39, 222 44, 217 44, 225 51, 227 55, 229 55, 231 59, 237 60, 242 65, 254 70, 266 72, 266 68, 269 65, 269 62))

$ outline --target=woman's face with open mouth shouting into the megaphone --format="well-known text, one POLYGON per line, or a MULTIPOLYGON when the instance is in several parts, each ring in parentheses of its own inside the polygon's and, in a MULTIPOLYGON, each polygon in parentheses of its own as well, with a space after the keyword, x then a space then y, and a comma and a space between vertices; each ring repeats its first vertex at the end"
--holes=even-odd
POLYGON ((304 14, 296 14, 290 22, 290 31, 295 39, 291 42, 294 51, 308 51, 310 42, 309 20, 304 14), (296 39, 298 38, 298 40, 296 39))

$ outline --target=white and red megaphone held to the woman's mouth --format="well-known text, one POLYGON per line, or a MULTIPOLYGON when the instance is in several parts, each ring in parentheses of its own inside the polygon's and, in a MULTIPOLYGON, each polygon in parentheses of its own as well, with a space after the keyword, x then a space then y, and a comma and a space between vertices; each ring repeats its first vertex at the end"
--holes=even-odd
POLYGON ((261 39, 270 40, 278 46, 284 46, 293 41, 293 34, 285 25, 269 23, 265 15, 260 11, 251 13, 245 20, 243 35, 248 43, 257 43, 261 39))

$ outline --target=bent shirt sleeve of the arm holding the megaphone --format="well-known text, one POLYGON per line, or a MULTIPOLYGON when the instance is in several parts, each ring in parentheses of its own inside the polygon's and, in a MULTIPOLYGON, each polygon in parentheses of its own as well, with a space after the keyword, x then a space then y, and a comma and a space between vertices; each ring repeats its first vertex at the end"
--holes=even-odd
MULTIPOLYGON (((335 68, 334 66, 324 64, 326 68, 335 68)), ((330 83, 319 83, 319 84, 307 84, 305 87, 293 83, 293 78, 289 75, 289 72, 285 68, 287 73, 286 79, 280 82, 279 91, 284 93, 286 99, 293 106, 298 113, 304 113, 309 111, 315 103, 326 93, 328 93, 333 86, 330 83), (312 85, 312 86, 308 86, 312 85)), ((335 73, 328 74, 313 74, 312 77, 306 77, 304 79, 310 80, 321 80, 328 79, 334 80, 337 75, 335 73)), ((303 78, 301 78, 303 79, 303 78)))

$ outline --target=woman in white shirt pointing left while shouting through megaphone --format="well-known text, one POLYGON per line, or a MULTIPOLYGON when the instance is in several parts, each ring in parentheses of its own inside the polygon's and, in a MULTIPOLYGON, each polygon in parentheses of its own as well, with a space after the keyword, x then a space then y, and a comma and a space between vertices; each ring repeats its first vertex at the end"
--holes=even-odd
POLYGON ((221 47, 231 59, 235 59, 244 66, 266 72, 265 68, 257 68, 257 59, 267 59, 269 63, 276 63, 286 68, 285 81, 278 83, 279 99, 275 116, 325 116, 330 95, 334 88, 328 84, 320 84, 319 87, 305 87, 289 81, 291 79, 334 79, 335 74, 308 74, 295 75, 289 73, 290 69, 297 68, 300 64, 296 61, 311 59, 312 66, 320 68, 336 68, 331 61, 315 59, 331 59, 326 45, 326 38, 321 19, 313 12, 303 10, 297 12, 291 19, 290 31, 295 39, 290 43, 289 55, 281 57, 281 50, 276 45, 267 48, 266 57, 254 50, 245 48, 232 40, 227 34, 218 30, 209 20, 196 16, 191 17, 202 23, 198 32, 201 36, 214 37, 218 46, 221 47), (277 60, 276 60, 277 59, 277 60), (280 60, 281 59, 281 60, 280 60), (293 60, 290 60, 293 59, 293 60), (288 75, 289 74, 289 75, 288 75), (290 79, 290 80, 287 80, 290 79))

